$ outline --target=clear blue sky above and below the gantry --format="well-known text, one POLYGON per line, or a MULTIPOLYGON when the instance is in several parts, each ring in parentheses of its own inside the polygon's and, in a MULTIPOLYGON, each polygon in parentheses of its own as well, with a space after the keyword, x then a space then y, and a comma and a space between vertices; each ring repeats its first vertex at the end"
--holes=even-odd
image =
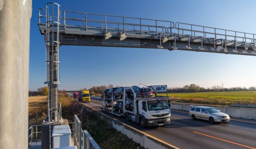
MULTIPOLYGON (((57 2, 62 10, 159 19, 256 33, 255 0, 33 0, 29 90, 45 86, 44 37, 38 8, 57 2)), ((256 57, 117 47, 61 46, 59 89, 136 84, 182 87, 256 86, 256 57), (161 64, 159 64, 161 61, 161 64), (143 67, 140 66, 143 62, 143 67)))

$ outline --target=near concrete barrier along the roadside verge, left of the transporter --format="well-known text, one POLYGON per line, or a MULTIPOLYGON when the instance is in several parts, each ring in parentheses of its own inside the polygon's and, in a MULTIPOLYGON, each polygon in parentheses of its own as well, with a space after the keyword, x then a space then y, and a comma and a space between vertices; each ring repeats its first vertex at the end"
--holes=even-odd
POLYGON ((96 114, 99 118, 105 121, 108 125, 111 125, 115 130, 121 132, 122 134, 126 135, 134 142, 139 143, 140 146, 148 148, 148 149, 179 149, 167 142, 164 142, 154 136, 151 136, 145 132, 137 130, 121 121, 118 121, 115 118, 112 118, 106 114, 101 113, 89 106, 85 106, 85 109, 89 112, 96 114))

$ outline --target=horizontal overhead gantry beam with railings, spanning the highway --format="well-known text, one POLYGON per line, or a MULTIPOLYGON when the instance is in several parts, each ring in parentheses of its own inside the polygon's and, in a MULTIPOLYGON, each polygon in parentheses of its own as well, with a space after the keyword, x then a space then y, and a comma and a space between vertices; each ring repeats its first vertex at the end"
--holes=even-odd
MULTIPOLYGON (((44 17, 39 17, 41 34, 45 34, 44 17)), ((160 48, 256 56, 256 35, 251 33, 66 10, 60 11, 59 22, 60 45, 160 48), (67 14, 83 17, 70 18, 66 17, 67 14)))

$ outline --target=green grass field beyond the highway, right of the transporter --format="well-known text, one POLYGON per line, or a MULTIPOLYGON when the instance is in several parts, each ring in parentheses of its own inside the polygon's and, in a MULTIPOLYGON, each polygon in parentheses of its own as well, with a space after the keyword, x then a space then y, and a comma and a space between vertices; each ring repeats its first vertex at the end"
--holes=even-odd
POLYGON ((217 105, 230 105, 240 102, 256 104, 256 91, 168 93, 168 96, 174 102, 217 105))

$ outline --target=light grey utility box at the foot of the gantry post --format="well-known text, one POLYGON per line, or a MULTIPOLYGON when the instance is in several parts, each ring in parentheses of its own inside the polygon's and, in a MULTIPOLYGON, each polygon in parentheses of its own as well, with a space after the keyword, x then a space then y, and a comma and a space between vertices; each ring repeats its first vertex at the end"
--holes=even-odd
POLYGON ((71 146, 71 130, 69 125, 56 125, 52 130, 53 148, 71 146))

